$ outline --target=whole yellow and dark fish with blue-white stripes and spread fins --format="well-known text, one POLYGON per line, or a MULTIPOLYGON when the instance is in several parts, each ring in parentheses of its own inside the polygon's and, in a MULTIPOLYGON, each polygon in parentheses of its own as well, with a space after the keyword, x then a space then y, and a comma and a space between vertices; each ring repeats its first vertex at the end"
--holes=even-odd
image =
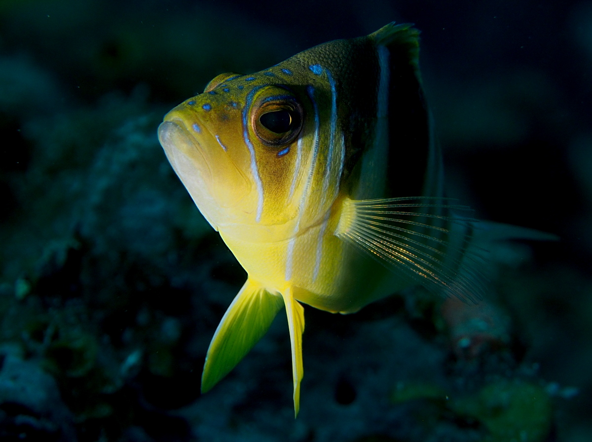
POLYGON ((483 245, 552 239, 459 216, 443 197, 418 35, 391 23, 252 75, 224 73, 166 114, 170 164, 248 273, 211 341, 202 392, 285 306, 298 414, 301 303, 353 313, 413 284, 478 299, 483 245))

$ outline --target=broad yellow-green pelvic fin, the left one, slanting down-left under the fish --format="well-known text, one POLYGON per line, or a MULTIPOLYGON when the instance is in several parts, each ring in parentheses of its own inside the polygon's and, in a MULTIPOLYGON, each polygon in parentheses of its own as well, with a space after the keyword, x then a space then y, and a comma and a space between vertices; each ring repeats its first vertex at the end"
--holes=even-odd
POLYGON ((247 279, 234 297, 210 342, 201 376, 201 392, 210 390, 249 353, 282 308, 282 298, 247 279))

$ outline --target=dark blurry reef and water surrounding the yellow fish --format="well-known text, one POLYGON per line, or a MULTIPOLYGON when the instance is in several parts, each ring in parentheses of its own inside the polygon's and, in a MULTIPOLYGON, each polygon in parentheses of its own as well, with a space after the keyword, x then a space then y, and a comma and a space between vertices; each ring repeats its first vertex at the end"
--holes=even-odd
POLYGON ((589 0, 0 0, 0 440, 592 440, 591 72, 589 0), (561 240, 499 245, 479 306, 305 308, 297 419, 281 313, 201 396, 246 273, 158 124, 392 20, 422 30, 448 193, 561 240))

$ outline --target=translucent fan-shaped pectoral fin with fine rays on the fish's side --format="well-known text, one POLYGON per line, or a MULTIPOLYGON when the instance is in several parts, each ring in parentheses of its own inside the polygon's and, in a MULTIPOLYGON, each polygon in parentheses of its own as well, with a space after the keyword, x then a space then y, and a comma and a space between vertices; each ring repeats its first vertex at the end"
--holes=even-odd
POLYGON ((427 289, 474 302, 484 294, 487 280, 480 270, 486 251, 472 242, 477 220, 450 215, 467 208, 443 201, 446 198, 345 200, 336 235, 427 289), (418 202, 400 203, 409 200, 418 202), (403 207, 417 210, 393 210, 403 207))

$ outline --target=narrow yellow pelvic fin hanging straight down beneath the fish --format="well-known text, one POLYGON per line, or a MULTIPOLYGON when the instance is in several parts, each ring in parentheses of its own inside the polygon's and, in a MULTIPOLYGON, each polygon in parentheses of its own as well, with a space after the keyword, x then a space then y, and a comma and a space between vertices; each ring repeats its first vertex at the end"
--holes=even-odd
POLYGON ((304 308, 292 297, 290 289, 282 293, 288 316, 290 342, 292 344, 292 380, 294 381, 294 417, 300 410, 300 382, 304 376, 302 364, 302 334, 304 332, 304 308))

